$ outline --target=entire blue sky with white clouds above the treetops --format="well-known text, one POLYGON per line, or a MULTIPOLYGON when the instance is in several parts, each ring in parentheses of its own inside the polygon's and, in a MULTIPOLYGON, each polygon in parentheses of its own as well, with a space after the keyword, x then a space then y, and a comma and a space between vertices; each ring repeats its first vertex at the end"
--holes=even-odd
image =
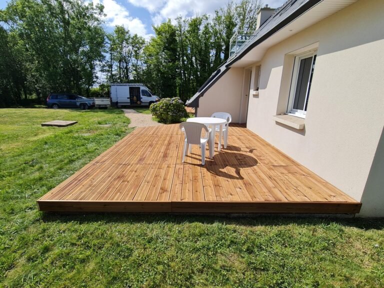
MULTIPOLYGON (((152 25, 177 16, 190 17, 213 14, 214 10, 225 5, 225 0, 90 0, 104 5, 105 28, 112 31, 115 25, 123 25, 132 34, 145 39, 153 35, 152 25)), ((285 0, 262 0, 263 5, 277 8, 285 0)), ((0 9, 8 0, 0 0, 0 9)))

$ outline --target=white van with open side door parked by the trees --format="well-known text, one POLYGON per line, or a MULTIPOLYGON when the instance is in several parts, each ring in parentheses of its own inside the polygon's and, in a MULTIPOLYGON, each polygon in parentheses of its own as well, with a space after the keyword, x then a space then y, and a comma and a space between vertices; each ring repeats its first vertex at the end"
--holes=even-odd
POLYGON ((110 84, 110 102, 117 107, 150 106, 159 99, 142 83, 110 84))

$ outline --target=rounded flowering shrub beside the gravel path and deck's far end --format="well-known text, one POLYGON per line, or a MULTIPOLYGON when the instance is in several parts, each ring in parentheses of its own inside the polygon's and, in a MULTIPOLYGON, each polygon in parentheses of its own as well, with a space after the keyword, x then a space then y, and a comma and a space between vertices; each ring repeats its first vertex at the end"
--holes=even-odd
POLYGON ((188 117, 184 103, 179 97, 163 98, 150 105, 150 112, 162 123, 181 122, 181 118, 188 117))

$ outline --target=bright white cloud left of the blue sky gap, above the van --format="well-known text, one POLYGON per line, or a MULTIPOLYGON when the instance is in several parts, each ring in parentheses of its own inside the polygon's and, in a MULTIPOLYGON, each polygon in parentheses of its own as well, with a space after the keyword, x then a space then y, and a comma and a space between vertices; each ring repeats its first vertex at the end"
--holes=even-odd
POLYGON ((122 25, 132 34, 149 39, 152 34, 147 33, 145 24, 137 17, 129 16, 129 11, 115 0, 93 0, 93 4, 104 5, 105 22, 109 27, 122 25))

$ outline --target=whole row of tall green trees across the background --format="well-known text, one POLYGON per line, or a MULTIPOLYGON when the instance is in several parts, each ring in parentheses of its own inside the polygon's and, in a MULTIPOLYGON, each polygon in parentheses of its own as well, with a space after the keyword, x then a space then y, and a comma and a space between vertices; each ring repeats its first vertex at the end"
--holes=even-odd
POLYGON ((92 1, 10 0, 0 10, 0 107, 50 92, 105 95, 94 89, 104 79, 185 102, 228 57, 234 31, 255 28, 259 5, 232 1, 213 16, 168 19, 145 42, 124 26, 105 33, 103 6, 92 1))

